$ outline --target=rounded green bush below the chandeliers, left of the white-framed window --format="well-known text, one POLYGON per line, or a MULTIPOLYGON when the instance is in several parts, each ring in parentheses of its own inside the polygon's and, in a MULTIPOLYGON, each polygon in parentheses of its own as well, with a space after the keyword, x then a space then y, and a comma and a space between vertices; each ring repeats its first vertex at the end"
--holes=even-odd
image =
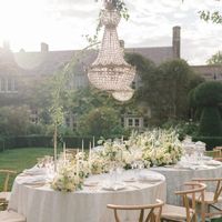
POLYGON ((121 135, 120 113, 113 108, 101 107, 82 115, 79 122, 81 134, 108 137, 121 135))

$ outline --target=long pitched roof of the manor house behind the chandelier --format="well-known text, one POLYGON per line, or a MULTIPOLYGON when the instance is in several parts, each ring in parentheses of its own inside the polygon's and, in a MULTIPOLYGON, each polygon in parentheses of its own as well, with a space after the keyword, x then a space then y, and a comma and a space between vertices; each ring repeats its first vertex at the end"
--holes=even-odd
MULTIPOLYGON (((173 58, 172 47, 159 48, 128 48, 125 52, 140 53, 151 59, 157 64, 173 58)), ((33 75, 48 75, 54 73, 60 67, 71 60, 73 54, 80 53, 80 50, 68 51, 48 51, 48 52, 17 52, 14 53, 16 63, 23 69, 23 73, 33 75)), ((82 54, 77 65, 78 72, 84 72, 97 58, 97 50, 88 50, 82 54)))

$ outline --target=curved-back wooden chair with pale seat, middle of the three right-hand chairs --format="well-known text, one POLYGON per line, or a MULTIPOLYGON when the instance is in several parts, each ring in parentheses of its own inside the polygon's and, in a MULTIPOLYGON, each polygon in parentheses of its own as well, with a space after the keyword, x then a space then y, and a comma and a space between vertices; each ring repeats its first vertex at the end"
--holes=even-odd
MULTIPOLYGON (((176 195, 181 195, 183 200, 183 206, 165 204, 162 209, 161 221, 174 221, 174 222, 196 222, 196 209, 195 200, 200 200, 203 204, 204 190, 206 188, 203 183, 189 182, 184 184, 185 186, 191 186, 184 191, 176 191, 176 195), (191 201, 189 199, 191 195, 191 201)), ((202 209, 203 210, 202 205, 202 209)), ((201 211, 202 212, 202 211, 201 211)), ((204 214, 201 213, 201 221, 205 222, 204 214)))

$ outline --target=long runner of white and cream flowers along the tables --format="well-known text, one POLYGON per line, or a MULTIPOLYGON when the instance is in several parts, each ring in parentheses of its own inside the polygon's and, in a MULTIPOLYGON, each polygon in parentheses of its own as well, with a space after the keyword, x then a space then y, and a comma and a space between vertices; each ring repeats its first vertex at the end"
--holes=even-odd
POLYGON ((173 130, 152 130, 132 133, 129 140, 102 141, 99 150, 75 155, 61 155, 51 188, 71 192, 82 188, 89 174, 107 173, 119 167, 125 170, 138 162, 144 168, 176 163, 183 154, 182 143, 173 130))

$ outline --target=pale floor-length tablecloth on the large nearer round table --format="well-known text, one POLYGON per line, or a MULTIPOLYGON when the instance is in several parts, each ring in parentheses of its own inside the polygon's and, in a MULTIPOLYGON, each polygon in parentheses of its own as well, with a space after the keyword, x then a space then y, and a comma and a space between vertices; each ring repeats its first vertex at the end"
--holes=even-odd
MULTIPOLYGON (((149 204, 155 199, 165 201, 165 179, 163 175, 143 170, 145 176, 160 180, 155 182, 125 182, 120 191, 105 191, 102 182, 108 174, 90 176, 89 181, 99 181, 98 186, 83 186, 83 190, 72 193, 53 191, 49 185, 36 188, 21 183, 23 176, 18 176, 12 188, 9 209, 27 218, 27 222, 111 222, 113 212, 107 209, 108 203, 114 204, 149 204)), ((134 176, 134 171, 124 171, 122 181, 134 176)), ((124 212, 122 219, 134 220, 135 213, 124 212)))

